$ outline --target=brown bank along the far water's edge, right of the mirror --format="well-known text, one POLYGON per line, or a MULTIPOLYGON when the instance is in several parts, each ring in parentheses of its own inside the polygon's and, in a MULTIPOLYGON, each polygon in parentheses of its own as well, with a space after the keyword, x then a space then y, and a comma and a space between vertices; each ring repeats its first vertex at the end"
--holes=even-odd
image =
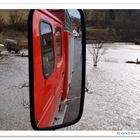
POLYGON ((95 27, 86 27, 86 41, 88 44, 92 43, 94 40, 99 40, 102 42, 134 42, 135 44, 140 44, 139 36, 136 35, 137 32, 128 33, 126 31, 119 32, 115 29, 107 28, 95 28, 95 27), (128 35, 129 34, 129 35, 128 35), (127 37, 128 35, 128 37, 127 37), (126 37, 125 37, 126 36, 126 37), (131 37, 130 37, 131 36, 131 37))

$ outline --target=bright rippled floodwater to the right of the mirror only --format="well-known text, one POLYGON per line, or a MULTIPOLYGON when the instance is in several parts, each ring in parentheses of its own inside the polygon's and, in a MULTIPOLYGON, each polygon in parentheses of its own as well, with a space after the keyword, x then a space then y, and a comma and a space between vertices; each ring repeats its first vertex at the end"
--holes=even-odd
POLYGON ((106 53, 93 67, 87 45, 87 87, 81 120, 67 130, 140 130, 140 46, 105 44, 106 53))

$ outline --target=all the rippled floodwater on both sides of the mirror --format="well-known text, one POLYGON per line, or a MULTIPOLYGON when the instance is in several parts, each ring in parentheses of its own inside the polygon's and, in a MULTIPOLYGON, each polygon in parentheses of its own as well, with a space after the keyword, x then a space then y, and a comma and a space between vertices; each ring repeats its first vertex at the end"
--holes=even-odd
MULTIPOLYGON (((93 67, 87 45, 87 87, 81 120, 60 130, 140 130, 140 46, 105 44, 93 67)), ((0 56, 0 130, 29 130, 28 58, 0 56)))

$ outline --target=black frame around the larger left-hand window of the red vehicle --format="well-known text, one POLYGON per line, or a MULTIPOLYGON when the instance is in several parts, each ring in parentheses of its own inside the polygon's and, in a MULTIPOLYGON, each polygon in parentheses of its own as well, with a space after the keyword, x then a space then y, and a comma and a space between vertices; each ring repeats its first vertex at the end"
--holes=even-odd
POLYGON ((55 69, 55 49, 54 49, 53 27, 52 27, 52 25, 51 25, 50 22, 48 22, 48 21, 46 21, 46 20, 44 20, 44 19, 41 19, 41 20, 39 21, 39 39, 40 39, 40 49, 41 49, 42 73, 43 73, 44 79, 47 80, 47 79, 49 79, 50 76, 53 74, 54 69, 55 69), (52 35, 52 46, 53 46, 53 55, 54 55, 54 66, 53 66, 52 72, 51 72, 48 76, 46 76, 45 71, 44 71, 44 66, 43 66, 43 50, 42 50, 42 41, 41 41, 41 23, 48 24, 48 25, 50 26, 50 28, 51 28, 51 31, 52 31, 52 32, 51 32, 51 35, 52 35))

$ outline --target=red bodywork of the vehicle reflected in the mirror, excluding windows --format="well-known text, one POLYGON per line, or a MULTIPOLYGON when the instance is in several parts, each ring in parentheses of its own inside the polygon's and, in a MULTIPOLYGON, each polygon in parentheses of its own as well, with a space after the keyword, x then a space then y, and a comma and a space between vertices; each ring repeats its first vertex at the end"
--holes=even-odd
MULTIPOLYGON (((59 111, 62 101, 68 96, 68 44, 70 31, 64 30, 64 20, 56 16, 63 17, 59 11, 37 10, 33 18, 33 60, 34 60, 34 109, 37 127, 44 128, 52 126, 59 111), (53 13, 53 14, 52 14, 53 13), (56 15, 55 15, 56 13, 56 15), (60 14, 60 15, 59 15, 60 14), (43 53, 41 49, 41 23, 50 26, 52 31, 52 42, 54 50, 53 71, 49 77, 43 74, 43 53), (57 61, 57 34, 60 30, 61 58, 57 61)), ((63 17, 64 18, 64 17, 63 17)), ((43 27, 42 27, 43 28, 43 27)), ((42 31, 43 32, 43 31, 42 31)), ((46 31, 47 32, 47 31, 46 31)), ((42 37, 45 34, 42 35, 42 37)), ((49 40, 50 41, 50 40, 49 40)), ((47 41, 46 41, 47 42, 47 41)), ((45 42, 45 43, 46 43, 45 42)), ((48 53, 49 54, 49 53, 48 53)), ((51 55, 51 54, 50 54, 51 55)), ((48 60, 47 60, 48 61, 48 60)))

